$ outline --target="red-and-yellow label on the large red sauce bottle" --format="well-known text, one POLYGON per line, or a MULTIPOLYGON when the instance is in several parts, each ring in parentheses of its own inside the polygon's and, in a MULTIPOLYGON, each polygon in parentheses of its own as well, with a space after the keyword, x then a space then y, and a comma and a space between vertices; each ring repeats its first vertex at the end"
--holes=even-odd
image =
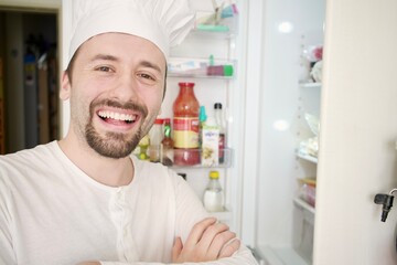
POLYGON ((198 118, 174 117, 173 134, 175 148, 198 148, 198 118))

